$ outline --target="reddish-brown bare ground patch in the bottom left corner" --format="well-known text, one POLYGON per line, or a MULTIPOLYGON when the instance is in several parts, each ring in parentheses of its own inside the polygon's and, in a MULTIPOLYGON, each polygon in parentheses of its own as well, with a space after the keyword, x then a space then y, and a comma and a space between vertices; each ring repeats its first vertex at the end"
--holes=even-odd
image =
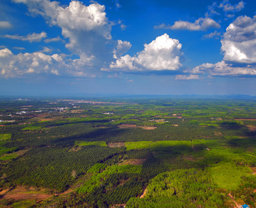
POLYGON ((50 197, 51 195, 44 193, 44 191, 34 191, 33 188, 25 189, 24 187, 17 187, 3 195, 3 199, 12 198, 14 200, 45 200, 50 197))

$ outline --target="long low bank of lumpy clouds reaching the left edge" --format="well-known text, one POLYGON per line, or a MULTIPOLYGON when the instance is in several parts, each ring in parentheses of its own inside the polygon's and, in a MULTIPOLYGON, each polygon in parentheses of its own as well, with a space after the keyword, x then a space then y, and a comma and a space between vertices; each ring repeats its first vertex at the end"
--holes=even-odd
POLYGON ((1 49, 0 77, 13 78, 42 73, 92 77, 94 74, 84 69, 90 66, 91 59, 81 55, 79 59, 63 60, 59 54, 47 55, 41 51, 15 55, 9 49, 1 49))

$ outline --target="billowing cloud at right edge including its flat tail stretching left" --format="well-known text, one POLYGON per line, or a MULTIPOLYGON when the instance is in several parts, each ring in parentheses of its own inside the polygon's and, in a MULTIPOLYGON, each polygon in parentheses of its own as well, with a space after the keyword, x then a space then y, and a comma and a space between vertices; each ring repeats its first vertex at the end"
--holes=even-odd
POLYGON ((221 40, 223 60, 201 64, 185 73, 209 73, 210 76, 256 76, 256 16, 237 17, 221 40))

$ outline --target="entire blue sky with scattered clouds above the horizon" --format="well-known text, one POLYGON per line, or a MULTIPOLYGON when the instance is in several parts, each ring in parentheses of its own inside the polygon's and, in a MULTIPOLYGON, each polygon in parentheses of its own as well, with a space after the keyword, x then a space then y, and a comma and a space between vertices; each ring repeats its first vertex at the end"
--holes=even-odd
POLYGON ((0 95, 256 96, 253 0, 0 2, 0 95))

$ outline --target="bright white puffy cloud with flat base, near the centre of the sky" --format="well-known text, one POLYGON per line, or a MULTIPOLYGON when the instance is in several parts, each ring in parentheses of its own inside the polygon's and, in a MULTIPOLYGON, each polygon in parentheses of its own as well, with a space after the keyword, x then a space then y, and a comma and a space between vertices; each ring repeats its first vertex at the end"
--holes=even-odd
POLYGON ((124 71, 161 71, 177 70, 182 67, 180 58, 182 44, 179 40, 163 34, 153 40, 150 44, 144 44, 144 50, 136 56, 124 55, 115 62, 111 62, 110 69, 120 69, 124 71))

